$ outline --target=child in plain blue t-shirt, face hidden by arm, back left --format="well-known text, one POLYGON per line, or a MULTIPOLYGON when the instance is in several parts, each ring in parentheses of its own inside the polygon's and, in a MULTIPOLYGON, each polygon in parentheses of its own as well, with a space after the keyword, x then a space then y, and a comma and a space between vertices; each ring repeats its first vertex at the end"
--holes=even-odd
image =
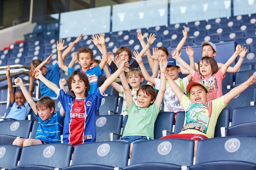
MULTIPOLYGON (((66 56, 68 55, 68 53, 72 50, 72 48, 81 40, 83 34, 80 34, 77 39, 72 42, 72 44, 63 52, 63 60, 66 58, 66 56)), ((46 77, 46 79, 52 81, 53 83, 55 83, 56 85, 59 86, 59 61, 54 64, 52 67, 46 67, 44 66, 45 64, 50 63, 52 58, 52 54, 46 58, 44 61, 41 61, 39 59, 34 59, 33 61, 31 61, 30 63, 30 68, 32 68, 33 66, 36 67, 36 70, 41 70, 42 75, 44 75, 44 77, 46 77)), ((54 93, 54 91, 52 91, 51 89, 49 89, 48 87, 46 87, 46 85, 44 85, 44 83, 40 82, 40 91, 41 91, 41 97, 42 96, 49 96, 49 97, 56 97, 56 94, 54 93)))

